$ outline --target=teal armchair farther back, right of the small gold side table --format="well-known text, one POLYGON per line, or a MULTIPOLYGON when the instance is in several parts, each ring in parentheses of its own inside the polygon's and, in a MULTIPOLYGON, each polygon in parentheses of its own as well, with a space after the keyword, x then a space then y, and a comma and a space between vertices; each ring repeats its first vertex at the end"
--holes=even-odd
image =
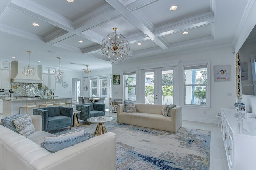
POLYGON ((104 116, 105 104, 100 104, 100 103, 77 104, 76 110, 81 111, 80 113, 76 114, 78 119, 87 121, 87 119, 90 117, 104 116))

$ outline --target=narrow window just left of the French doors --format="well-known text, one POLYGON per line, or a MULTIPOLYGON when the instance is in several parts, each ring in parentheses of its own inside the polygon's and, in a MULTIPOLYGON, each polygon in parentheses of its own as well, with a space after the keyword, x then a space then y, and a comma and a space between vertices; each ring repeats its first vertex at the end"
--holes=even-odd
POLYGON ((136 90, 137 90, 137 80, 136 80, 136 71, 134 72, 129 72, 129 73, 124 73, 124 100, 125 101, 137 101, 136 97, 136 90))

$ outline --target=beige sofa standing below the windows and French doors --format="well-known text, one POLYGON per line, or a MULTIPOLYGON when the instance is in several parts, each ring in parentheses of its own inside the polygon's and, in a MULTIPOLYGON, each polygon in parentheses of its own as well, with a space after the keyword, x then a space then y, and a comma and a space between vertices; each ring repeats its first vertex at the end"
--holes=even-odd
POLYGON ((124 112, 124 104, 117 105, 117 122, 169 132, 177 132, 181 125, 181 107, 171 110, 171 117, 162 115, 164 105, 135 103, 137 112, 124 112))

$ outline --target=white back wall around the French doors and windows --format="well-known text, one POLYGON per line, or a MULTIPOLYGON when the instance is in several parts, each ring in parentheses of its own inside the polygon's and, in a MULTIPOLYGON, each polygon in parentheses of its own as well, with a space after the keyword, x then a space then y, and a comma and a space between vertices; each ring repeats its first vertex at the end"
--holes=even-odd
MULTIPOLYGON (((184 120, 192 120, 192 121, 201 121, 208 123, 217 123, 216 115, 217 112, 220 112, 221 108, 234 108, 234 103, 236 101, 236 86, 235 82, 235 55, 232 54, 233 47, 225 47, 220 49, 212 49, 207 51, 186 53, 175 56, 168 57, 159 57, 156 56, 154 58, 150 57, 146 60, 138 59, 136 61, 124 61, 122 63, 113 64, 112 65, 112 74, 120 74, 121 85, 113 86, 112 95, 113 98, 122 98, 123 99, 123 90, 124 85, 122 81, 122 73, 123 71, 132 71, 137 70, 138 66, 143 64, 152 64, 155 65, 159 62, 170 62, 174 60, 180 60, 179 63, 179 80, 183 79, 183 70, 181 65, 184 63, 191 63, 194 61, 205 61, 210 60, 210 101, 211 107, 210 109, 196 109, 192 107, 182 107, 182 119, 184 120), (213 66, 215 65, 230 65, 231 69, 231 81, 227 82, 214 82, 213 81, 213 66), (231 93, 231 96, 228 96, 228 93, 231 93), (206 112, 206 115, 204 114, 206 112)), ((137 74, 137 79, 139 79, 140 75, 137 74)), ((181 82, 181 81, 179 81, 181 82)), ((179 101, 178 103, 174 103, 176 105, 182 105, 182 90, 183 85, 179 83, 179 101)), ((137 84, 138 88, 138 84, 137 84)))

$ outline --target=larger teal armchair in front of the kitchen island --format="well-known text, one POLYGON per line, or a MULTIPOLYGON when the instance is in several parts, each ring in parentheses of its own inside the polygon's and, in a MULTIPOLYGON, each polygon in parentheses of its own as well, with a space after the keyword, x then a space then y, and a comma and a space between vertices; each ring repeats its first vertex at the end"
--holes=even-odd
POLYGON ((73 125, 73 108, 54 106, 33 109, 33 115, 42 116, 42 130, 50 131, 73 125))

